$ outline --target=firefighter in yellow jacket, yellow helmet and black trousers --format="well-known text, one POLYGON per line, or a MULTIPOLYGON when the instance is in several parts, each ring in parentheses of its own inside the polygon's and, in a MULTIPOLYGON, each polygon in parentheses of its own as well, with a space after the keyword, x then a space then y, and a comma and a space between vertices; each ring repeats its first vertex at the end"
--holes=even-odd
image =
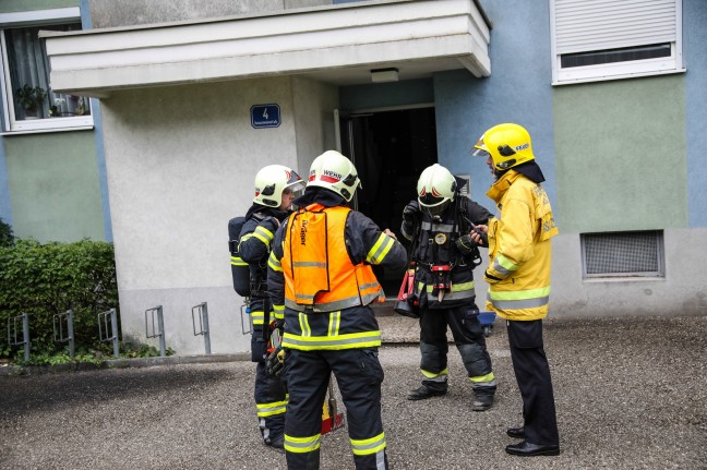
MULTIPOLYGON (((560 439, 542 318, 550 300, 551 238, 558 234, 535 160, 530 134, 513 123, 483 133, 471 152, 487 159, 495 182, 487 193, 499 208, 489 221, 487 309, 506 320, 511 359, 523 397, 524 424, 506 434, 524 439, 506 447, 518 456, 559 455, 560 439)), ((479 236, 477 234, 477 241, 479 236)))

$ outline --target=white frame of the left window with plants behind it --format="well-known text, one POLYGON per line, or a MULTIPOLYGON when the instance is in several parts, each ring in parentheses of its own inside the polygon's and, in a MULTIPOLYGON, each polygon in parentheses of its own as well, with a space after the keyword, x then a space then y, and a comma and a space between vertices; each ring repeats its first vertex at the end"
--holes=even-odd
MULTIPOLYGON (((5 31, 17 27, 37 27, 43 25, 67 24, 72 22, 81 23, 81 10, 79 7, 69 7, 50 10, 36 10, 15 13, 3 13, 0 16, 0 99, 2 99, 2 132, 0 135, 15 135, 35 132, 58 132, 89 130, 94 128, 93 107, 91 98, 85 97, 91 112, 85 116, 71 117, 48 117, 43 119, 19 120, 15 117, 15 94, 14 89, 20 86, 13 84, 10 74, 10 62, 8 58, 8 43, 5 31)), ((50 89, 50 87, 49 87, 50 89)), ((47 89, 47 95, 49 94, 47 89)))

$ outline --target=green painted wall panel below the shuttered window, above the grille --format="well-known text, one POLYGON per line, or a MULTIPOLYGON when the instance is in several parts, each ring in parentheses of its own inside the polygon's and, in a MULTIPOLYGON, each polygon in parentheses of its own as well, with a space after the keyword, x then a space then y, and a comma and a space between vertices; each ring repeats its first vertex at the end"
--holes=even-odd
POLYGON ((564 233, 687 227, 684 75, 555 87, 553 112, 564 233))

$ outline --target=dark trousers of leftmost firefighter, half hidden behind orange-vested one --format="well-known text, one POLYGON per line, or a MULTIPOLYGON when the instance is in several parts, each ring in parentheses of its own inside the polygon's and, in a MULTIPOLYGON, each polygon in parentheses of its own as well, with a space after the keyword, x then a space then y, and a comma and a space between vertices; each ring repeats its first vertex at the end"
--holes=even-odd
MULTIPOLYGON (((262 330, 253 333, 255 339, 262 330)), ((262 354, 261 354, 262 358, 262 354)), ((285 429, 285 409, 287 406, 287 387, 281 378, 267 373, 263 359, 255 366, 254 387, 257 425, 266 444, 283 437, 285 429)))

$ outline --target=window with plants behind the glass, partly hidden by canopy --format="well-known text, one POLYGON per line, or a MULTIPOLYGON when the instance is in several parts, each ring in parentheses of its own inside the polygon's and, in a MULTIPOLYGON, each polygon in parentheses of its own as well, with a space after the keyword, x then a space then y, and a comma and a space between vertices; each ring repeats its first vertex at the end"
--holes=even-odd
POLYGON ((40 29, 81 29, 77 8, 0 15, 4 131, 31 132, 92 126, 87 97, 55 93, 40 29))

